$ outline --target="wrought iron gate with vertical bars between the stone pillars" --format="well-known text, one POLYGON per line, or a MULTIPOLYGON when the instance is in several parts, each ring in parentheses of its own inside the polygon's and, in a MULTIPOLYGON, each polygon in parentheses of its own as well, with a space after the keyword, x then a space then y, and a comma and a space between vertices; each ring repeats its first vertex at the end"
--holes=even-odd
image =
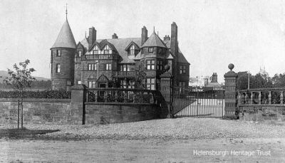
POLYGON ((175 88, 173 93, 174 117, 223 117, 224 90, 196 92, 175 88))

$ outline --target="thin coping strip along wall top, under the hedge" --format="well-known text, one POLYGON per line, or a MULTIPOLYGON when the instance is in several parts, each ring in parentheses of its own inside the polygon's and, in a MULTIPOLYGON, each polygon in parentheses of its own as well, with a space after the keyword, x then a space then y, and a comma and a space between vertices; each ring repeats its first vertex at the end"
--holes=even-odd
MULTIPOLYGON (((0 98, 0 102, 17 102, 18 98, 0 98)), ((23 102, 71 102, 71 99, 23 98, 23 102)))

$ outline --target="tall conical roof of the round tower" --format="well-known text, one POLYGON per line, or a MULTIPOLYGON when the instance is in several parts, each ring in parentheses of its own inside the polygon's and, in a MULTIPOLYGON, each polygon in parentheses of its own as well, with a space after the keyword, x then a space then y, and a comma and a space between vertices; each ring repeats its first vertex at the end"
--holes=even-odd
POLYGON ((58 33, 58 38, 51 48, 76 48, 76 41, 74 40, 71 27, 66 19, 63 23, 61 31, 58 33))

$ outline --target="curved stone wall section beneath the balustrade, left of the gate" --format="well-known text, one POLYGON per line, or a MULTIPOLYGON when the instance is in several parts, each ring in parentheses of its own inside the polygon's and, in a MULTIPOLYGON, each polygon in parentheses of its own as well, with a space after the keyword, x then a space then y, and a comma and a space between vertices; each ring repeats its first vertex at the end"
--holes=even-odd
POLYGON ((86 103, 86 125, 136 122, 159 118, 160 107, 132 103, 86 103))

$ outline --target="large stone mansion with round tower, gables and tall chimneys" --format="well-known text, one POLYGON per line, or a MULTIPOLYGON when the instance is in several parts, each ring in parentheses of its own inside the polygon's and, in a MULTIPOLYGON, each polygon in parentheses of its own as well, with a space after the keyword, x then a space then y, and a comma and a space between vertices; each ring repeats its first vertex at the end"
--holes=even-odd
POLYGON ((70 90, 73 85, 89 88, 136 88, 138 73, 143 72, 145 88, 160 89, 160 75, 168 71, 177 86, 187 87, 190 63, 177 41, 177 25, 171 24, 171 35, 161 39, 155 31, 150 36, 142 27, 141 37, 97 39, 89 36, 76 44, 68 20, 63 23, 51 47, 51 80, 53 90, 70 90))

